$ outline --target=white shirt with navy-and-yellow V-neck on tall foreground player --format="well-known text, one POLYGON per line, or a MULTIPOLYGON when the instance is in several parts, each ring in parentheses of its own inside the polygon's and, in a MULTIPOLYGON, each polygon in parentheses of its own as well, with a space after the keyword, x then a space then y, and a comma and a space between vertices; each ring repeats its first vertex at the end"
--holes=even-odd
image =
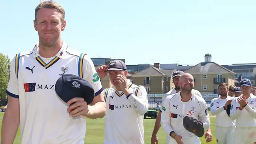
POLYGON ((36 44, 13 59, 6 92, 20 101, 21 144, 84 144, 86 117, 70 116, 54 90, 64 74, 90 82, 96 96, 103 91, 92 60, 65 42, 53 58, 42 58, 36 44))

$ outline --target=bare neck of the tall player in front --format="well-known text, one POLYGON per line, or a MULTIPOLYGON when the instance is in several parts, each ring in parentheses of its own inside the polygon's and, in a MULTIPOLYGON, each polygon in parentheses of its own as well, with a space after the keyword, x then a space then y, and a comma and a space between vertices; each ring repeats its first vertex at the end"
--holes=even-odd
POLYGON ((56 56, 56 54, 60 51, 61 47, 62 47, 61 41, 57 42, 56 45, 54 45, 52 47, 43 46, 39 42, 38 52, 39 52, 40 56, 42 56, 44 58, 51 58, 53 56, 56 56))

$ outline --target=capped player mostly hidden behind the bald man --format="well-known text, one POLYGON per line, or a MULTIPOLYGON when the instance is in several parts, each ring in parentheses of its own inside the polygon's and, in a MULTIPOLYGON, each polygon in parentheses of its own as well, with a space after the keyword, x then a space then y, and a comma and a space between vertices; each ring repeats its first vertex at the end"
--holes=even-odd
MULTIPOLYGON (((158 130, 160 129, 161 127, 161 124, 160 124, 160 121, 161 121, 161 110, 162 110, 162 107, 163 107, 163 104, 164 104, 164 100, 167 96, 170 96, 172 94, 176 94, 180 91, 180 86, 178 86, 178 81, 180 79, 180 76, 182 74, 185 74, 183 71, 180 71, 180 70, 174 70, 173 73, 172 73, 172 82, 174 83, 174 86, 175 88, 173 88, 172 90, 170 90, 169 92, 167 92, 164 97, 162 98, 162 103, 161 103, 161 106, 160 106, 160 111, 158 113, 158 116, 156 118, 156 122, 155 122, 155 126, 154 126, 154 130, 152 132, 152 137, 151 137, 151 144, 155 144, 156 142, 158 142, 158 137, 157 137, 157 132, 158 130)), ((202 95, 200 94, 200 92, 198 90, 195 90, 195 89, 192 89, 192 92, 200 97, 202 97, 202 95)), ((206 142, 210 142, 212 140, 212 133, 211 133, 211 129, 209 128, 209 130, 206 132, 206 137, 207 137, 207 140, 206 142)), ((167 143, 170 142, 172 138, 167 135, 166 136, 166 141, 167 143)))

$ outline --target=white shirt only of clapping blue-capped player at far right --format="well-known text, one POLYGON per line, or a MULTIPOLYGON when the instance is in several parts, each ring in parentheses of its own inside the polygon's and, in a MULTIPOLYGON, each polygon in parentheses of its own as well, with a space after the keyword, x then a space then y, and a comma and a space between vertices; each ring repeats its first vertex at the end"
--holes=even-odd
MULTIPOLYGON (((239 97, 242 97, 239 96, 239 97)), ((237 127, 256 127, 256 97, 253 94, 246 100, 248 102, 242 110, 239 109, 240 104, 236 97, 233 104, 233 109, 230 110, 230 118, 236 120, 237 127)))

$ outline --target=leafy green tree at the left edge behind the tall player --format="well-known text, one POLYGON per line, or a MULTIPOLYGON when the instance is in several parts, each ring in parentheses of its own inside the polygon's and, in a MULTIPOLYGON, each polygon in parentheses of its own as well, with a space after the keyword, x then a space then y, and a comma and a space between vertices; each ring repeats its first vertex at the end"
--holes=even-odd
POLYGON ((6 99, 6 89, 9 82, 11 60, 0 53, 0 100, 6 99))

